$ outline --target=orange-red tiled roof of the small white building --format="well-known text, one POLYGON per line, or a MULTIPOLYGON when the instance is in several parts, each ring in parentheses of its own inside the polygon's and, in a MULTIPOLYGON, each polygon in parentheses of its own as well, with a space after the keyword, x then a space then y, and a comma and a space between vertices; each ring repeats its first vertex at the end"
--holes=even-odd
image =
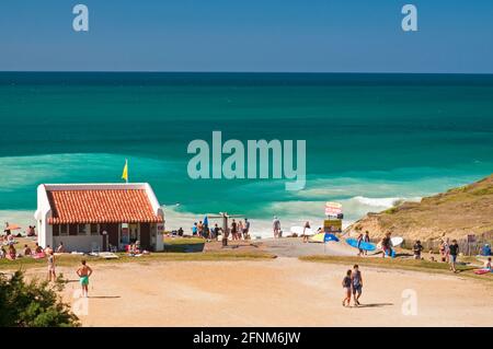
POLYGON ((49 224, 158 223, 144 189, 48 190, 49 224))

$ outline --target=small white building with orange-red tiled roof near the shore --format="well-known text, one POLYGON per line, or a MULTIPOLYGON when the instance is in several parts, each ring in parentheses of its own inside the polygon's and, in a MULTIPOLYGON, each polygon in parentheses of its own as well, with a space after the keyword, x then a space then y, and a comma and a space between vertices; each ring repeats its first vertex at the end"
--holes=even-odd
POLYGON ((139 241, 141 248, 163 249, 164 213, 147 183, 42 184, 34 217, 42 247, 122 251, 139 241))

